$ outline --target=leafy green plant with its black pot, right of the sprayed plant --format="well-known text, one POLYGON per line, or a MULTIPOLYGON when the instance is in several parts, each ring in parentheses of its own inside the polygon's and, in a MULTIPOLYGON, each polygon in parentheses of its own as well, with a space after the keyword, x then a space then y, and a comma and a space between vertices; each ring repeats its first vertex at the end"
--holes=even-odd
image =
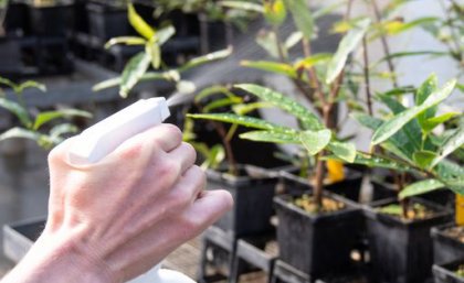
MULTIPOLYGON (((415 176, 412 178, 410 175, 408 182, 408 175, 399 173, 397 185, 400 203, 389 200, 366 209, 372 269, 377 280, 423 282, 430 275, 430 229, 446 222, 451 214, 433 204, 410 197, 443 187, 457 194, 463 193, 464 172, 458 165, 445 160, 462 146, 462 129, 455 129, 445 140, 432 142, 435 140, 432 130, 457 116, 455 112, 436 115, 437 105, 451 95, 454 86, 455 81, 450 81, 439 89, 436 77, 431 76, 414 94, 413 107, 405 108, 390 96, 380 96, 393 112, 387 121, 367 115, 354 115, 361 124, 375 130, 372 144, 379 144, 383 154, 373 155, 382 161, 391 160, 415 176)), ((355 163, 368 164, 372 161, 362 159, 358 156, 355 163)))

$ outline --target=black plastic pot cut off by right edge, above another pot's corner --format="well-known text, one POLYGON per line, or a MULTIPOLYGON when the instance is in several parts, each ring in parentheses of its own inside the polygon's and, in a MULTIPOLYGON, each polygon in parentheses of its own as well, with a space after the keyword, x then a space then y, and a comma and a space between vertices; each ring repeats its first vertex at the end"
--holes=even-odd
POLYGON ((444 232, 444 230, 454 226, 454 224, 447 224, 432 228, 433 262, 435 264, 443 264, 464 258, 464 243, 444 232))

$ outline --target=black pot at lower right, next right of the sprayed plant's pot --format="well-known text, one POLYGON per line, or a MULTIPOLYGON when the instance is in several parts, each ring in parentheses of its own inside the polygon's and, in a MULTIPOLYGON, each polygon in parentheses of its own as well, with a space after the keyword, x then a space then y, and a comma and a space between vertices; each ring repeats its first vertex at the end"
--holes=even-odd
POLYGON ((415 199, 435 211, 429 219, 403 221, 381 214, 378 207, 394 200, 366 207, 366 225, 375 282, 423 283, 431 276, 433 247, 430 229, 445 224, 452 214, 432 203, 415 199))

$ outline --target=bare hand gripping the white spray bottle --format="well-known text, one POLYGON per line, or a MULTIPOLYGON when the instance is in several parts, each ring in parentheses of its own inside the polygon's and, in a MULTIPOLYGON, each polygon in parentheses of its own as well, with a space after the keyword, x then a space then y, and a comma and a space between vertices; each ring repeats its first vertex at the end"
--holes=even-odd
POLYGON ((203 191, 196 152, 175 126, 137 134, 88 166, 67 162, 73 141, 49 155, 45 230, 6 282, 125 282, 232 206, 229 193, 203 191))

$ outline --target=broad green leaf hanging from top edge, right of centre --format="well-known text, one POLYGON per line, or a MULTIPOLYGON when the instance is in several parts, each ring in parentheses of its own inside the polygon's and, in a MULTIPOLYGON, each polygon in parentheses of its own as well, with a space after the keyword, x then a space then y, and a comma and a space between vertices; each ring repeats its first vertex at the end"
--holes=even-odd
POLYGON ((303 32, 306 40, 310 40, 314 34, 314 19, 309 7, 305 0, 285 0, 285 6, 293 15, 298 31, 303 32))

